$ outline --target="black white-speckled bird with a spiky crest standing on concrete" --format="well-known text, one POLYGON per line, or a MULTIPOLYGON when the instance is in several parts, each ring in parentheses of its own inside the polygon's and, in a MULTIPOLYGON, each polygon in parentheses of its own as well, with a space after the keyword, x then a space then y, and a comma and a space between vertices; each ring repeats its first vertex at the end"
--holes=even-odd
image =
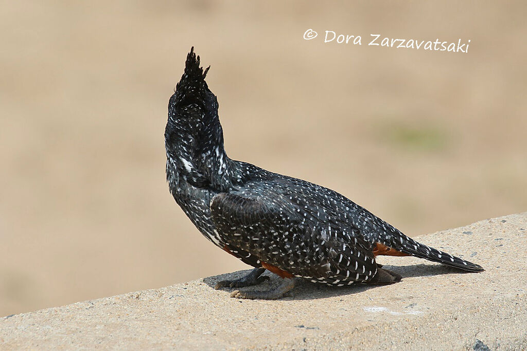
POLYGON ((483 267, 418 243, 329 188, 266 171, 227 156, 218 99, 205 81, 194 47, 169 99, 164 131, 170 193, 214 245, 253 267, 216 289, 255 286, 282 278, 267 290, 234 290, 231 297, 278 299, 301 280, 330 286, 393 284, 402 276, 376 263, 379 255, 415 256, 467 272, 483 267))

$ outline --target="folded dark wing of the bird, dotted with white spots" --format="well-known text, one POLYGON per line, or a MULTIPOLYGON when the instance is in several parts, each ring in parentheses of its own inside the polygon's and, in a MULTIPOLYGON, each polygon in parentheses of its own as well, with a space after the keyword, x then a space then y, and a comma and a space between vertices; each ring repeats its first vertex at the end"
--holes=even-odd
POLYGON ((266 268, 328 283, 368 280, 376 273, 373 253, 356 228, 308 215, 278 194, 264 201, 220 193, 210 207, 218 232, 235 256, 236 251, 250 254, 266 268))

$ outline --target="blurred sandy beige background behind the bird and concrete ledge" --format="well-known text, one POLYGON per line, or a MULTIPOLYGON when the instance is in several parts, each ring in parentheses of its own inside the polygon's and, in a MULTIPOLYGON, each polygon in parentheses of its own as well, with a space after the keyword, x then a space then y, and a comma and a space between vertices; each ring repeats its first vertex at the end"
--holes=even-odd
POLYGON ((0 316, 248 268, 165 183, 167 104, 192 45, 231 158, 333 188, 411 236, 525 211, 526 9, 2 2, 0 316), (308 28, 365 40, 304 41, 308 28), (386 49, 370 33, 471 44, 386 49))

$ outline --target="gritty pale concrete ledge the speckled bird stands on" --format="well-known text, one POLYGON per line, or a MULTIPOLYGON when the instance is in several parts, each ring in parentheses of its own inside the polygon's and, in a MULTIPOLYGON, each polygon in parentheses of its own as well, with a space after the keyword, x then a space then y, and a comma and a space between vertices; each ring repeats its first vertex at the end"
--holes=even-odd
MULTIPOLYGON (((527 213, 419 241, 486 270, 381 257, 402 282, 304 283, 276 301, 234 299, 212 288, 245 273, 236 272, 4 317, 0 348, 527 349, 527 213)), ((277 283, 272 277, 265 284, 277 283)))

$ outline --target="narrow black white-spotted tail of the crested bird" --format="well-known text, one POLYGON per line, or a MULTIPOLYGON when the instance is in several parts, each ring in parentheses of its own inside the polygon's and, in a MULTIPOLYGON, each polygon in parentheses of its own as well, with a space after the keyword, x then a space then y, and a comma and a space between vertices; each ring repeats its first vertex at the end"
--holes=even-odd
POLYGON ((428 247, 418 243, 402 233, 398 233, 398 235, 394 236, 392 247, 412 256, 424 258, 432 262, 438 262, 446 266, 463 269, 468 272, 482 272, 484 270, 480 265, 476 265, 475 263, 462 258, 452 256, 451 254, 447 254, 433 247, 428 247))

